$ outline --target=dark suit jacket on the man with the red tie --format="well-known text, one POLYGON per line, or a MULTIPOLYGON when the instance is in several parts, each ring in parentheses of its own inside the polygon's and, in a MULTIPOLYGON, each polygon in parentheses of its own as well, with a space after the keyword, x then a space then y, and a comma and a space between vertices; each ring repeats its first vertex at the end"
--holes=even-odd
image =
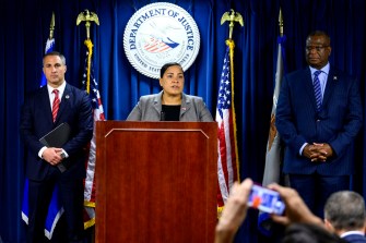
POLYGON ((21 118, 21 132, 27 147, 26 177, 31 180, 45 179, 51 166, 38 157, 44 145, 39 138, 59 124, 71 126, 71 139, 62 148, 69 158, 64 160, 67 177, 85 177, 85 150, 83 147, 93 136, 93 116, 91 100, 84 90, 66 85, 56 122, 49 102, 47 86, 29 94, 24 101, 21 118))

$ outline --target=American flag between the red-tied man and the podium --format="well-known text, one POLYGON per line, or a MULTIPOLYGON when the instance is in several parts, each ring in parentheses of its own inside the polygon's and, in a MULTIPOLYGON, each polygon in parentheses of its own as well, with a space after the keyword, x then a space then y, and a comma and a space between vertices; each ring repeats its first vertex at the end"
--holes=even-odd
MULTIPOLYGON (((83 87, 88 93, 94 113, 94 124, 96 121, 105 121, 104 110, 98 89, 98 83, 94 77, 94 69, 92 62, 93 44, 92 40, 86 39, 84 41, 87 51, 85 58, 85 66, 83 73, 83 87)), ((93 132, 93 138, 90 143, 88 158, 86 161, 86 178, 84 187, 84 229, 87 229, 95 224, 95 125, 93 132)))

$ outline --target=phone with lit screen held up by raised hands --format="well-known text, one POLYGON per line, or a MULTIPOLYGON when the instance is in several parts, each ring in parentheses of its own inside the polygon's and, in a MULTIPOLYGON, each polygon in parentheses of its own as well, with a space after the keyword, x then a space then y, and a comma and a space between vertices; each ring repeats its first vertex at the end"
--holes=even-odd
POLYGON ((248 206, 275 215, 283 215, 285 210, 285 204, 278 192, 258 184, 253 184, 251 187, 248 206))

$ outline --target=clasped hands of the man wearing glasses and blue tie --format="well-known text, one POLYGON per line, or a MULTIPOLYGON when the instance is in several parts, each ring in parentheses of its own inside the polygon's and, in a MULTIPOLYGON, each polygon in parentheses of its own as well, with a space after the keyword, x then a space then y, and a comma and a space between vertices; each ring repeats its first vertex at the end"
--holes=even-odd
POLYGON ((311 162, 326 162, 333 155, 333 149, 329 144, 308 144, 304 147, 303 155, 311 162))

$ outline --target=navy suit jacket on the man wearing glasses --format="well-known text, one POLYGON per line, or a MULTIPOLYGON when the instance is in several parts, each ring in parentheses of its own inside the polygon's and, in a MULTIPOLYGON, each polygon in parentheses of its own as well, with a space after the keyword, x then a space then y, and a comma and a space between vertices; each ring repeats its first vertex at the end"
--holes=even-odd
POLYGON ((317 111, 309 68, 283 77, 275 125, 286 144, 284 172, 345 175, 353 172, 352 142, 363 120, 357 83, 330 68, 322 110, 317 111), (334 156, 327 162, 310 162, 299 156, 304 143, 328 143, 334 156))

